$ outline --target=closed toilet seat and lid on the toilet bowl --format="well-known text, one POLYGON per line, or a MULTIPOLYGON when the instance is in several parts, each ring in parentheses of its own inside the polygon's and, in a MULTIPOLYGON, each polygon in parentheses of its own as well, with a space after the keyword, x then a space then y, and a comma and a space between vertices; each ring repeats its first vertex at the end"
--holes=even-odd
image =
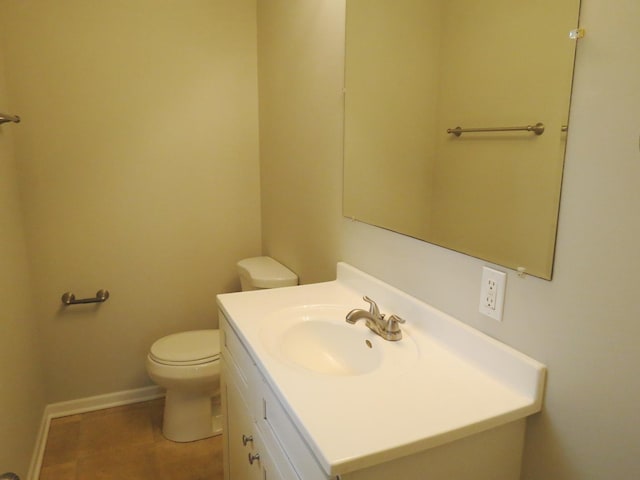
POLYGON ((220 358, 219 330, 192 330, 162 337, 151 345, 149 357, 162 365, 192 366, 220 358))

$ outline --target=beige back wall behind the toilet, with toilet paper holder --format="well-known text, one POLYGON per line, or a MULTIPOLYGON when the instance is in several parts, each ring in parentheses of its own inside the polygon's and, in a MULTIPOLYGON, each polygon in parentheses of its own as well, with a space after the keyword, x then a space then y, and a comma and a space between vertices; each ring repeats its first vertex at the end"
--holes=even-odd
POLYGON ((215 326, 261 251, 255 2, 0 8, 47 400, 150 384, 150 344, 215 326))

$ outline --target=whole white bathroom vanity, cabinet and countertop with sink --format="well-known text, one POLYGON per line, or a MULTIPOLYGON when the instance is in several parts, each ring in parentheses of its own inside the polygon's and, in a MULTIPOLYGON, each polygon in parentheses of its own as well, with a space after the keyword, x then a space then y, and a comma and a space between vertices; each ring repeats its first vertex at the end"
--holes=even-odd
POLYGON ((218 296, 225 480, 517 480, 545 367, 347 264, 218 296), (388 341, 346 314, 406 320, 388 341))

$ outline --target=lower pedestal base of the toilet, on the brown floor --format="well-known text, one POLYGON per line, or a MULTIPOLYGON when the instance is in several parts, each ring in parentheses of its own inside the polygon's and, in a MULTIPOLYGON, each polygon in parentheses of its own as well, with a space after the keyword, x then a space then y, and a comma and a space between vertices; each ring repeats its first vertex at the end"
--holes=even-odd
POLYGON ((173 442, 194 442, 219 435, 222 433, 219 409, 219 402, 202 392, 168 390, 162 435, 173 442))

